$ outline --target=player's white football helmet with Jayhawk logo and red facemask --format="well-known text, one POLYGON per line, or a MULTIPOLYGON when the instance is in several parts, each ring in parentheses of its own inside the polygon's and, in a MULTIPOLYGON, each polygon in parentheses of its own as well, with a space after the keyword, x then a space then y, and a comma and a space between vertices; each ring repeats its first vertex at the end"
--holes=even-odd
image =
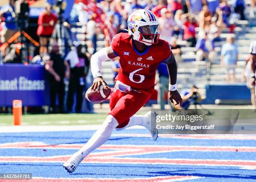
POLYGON ((150 46, 159 40, 159 22, 149 10, 137 10, 128 17, 128 33, 133 40, 150 46))

